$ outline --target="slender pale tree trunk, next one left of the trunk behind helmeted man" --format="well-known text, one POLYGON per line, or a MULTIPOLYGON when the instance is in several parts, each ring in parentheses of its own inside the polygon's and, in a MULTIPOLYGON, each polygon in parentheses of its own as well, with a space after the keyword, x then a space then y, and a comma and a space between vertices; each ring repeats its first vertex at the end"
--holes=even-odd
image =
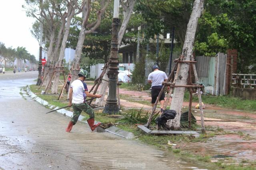
POLYGON ((66 23, 66 27, 65 27, 64 36, 62 39, 62 44, 60 47, 60 55, 58 58, 58 62, 55 64, 56 72, 54 75, 54 81, 53 81, 53 85, 52 85, 52 94, 58 93, 58 82, 60 80, 60 70, 63 70, 63 68, 60 68, 60 66, 62 66, 62 61, 64 59, 66 43, 68 40, 68 35, 69 35, 69 30, 70 30, 71 19, 74 16, 74 13, 75 13, 74 8, 72 8, 72 6, 70 6, 70 5, 68 5, 68 17, 67 17, 67 23, 66 23))

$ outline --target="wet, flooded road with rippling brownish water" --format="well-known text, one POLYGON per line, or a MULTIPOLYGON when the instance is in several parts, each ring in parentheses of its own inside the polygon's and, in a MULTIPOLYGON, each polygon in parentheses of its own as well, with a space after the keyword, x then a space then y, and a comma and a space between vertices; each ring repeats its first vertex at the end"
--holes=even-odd
MULTIPOLYGON (((0 74, 0 169, 174 169, 203 168, 167 152, 109 133, 92 133, 78 122, 31 98, 21 87, 35 84, 38 72, 0 74)), ((167 142, 167 141, 166 141, 167 142)))

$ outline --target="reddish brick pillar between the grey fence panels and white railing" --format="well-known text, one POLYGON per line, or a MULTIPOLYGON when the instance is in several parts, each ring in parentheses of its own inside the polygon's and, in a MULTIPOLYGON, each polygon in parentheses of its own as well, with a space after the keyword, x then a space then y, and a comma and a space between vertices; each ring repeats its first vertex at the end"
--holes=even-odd
POLYGON ((225 94, 230 93, 231 88, 231 74, 236 73, 237 69, 237 50, 236 49, 229 49, 227 51, 227 57, 226 57, 226 88, 225 88, 225 94), (231 72, 232 69, 232 72, 231 72))

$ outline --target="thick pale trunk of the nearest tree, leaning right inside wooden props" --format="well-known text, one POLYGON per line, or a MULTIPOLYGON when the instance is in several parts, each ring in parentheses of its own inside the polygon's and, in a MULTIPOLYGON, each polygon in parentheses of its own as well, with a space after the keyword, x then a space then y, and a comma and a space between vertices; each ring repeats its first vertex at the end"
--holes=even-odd
MULTIPOLYGON (((196 27, 198 25, 198 19, 200 18, 204 9, 204 0, 195 0, 193 5, 193 10, 190 15, 190 20, 188 22, 185 41, 182 50, 182 56, 184 61, 190 61, 193 58, 193 46, 194 38, 196 34, 196 27)), ((181 68, 177 75, 177 80, 175 85, 186 85, 188 80, 188 70, 189 64, 180 63, 181 68)), ((177 115, 175 119, 168 122, 168 125, 174 129, 180 128, 180 116, 181 109, 184 99, 185 88, 174 88, 174 93, 172 97, 172 104, 170 109, 175 110, 177 115)))

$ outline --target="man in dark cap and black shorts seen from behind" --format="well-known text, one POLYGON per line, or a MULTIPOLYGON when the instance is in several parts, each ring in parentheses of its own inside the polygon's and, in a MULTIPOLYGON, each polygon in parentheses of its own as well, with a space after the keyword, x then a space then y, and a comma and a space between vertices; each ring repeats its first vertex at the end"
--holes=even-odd
MULTIPOLYGON (((165 72, 159 70, 158 65, 152 66, 152 70, 153 72, 148 75, 148 83, 151 83, 151 104, 153 107, 154 103, 156 102, 156 98, 163 87, 162 82, 167 80, 167 75, 165 72)), ((159 99, 161 104, 161 111, 163 111, 164 108, 164 97, 164 93, 162 93, 159 99)))

